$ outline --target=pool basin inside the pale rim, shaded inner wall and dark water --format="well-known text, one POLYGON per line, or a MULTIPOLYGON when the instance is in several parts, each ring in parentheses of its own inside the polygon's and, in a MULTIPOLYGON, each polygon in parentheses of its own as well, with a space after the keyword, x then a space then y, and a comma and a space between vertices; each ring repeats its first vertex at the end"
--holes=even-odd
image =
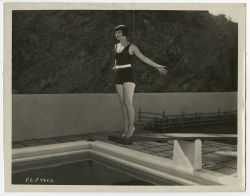
POLYGON ((12 184, 179 185, 91 152, 16 162, 12 184))

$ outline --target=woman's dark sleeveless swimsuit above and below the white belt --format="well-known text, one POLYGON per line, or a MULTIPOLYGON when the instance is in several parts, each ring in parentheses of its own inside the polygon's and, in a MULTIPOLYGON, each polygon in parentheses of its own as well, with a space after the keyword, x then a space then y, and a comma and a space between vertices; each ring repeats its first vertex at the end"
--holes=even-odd
MULTIPOLYGON (((129 46, 130 44, 128 44, 120 53, 117 52, 117 49, 115 47, 116 65, 132 65, 133 55, 129 54, 129 46)), ((116 70, 116 84, 123 84, 125 82, 135 83, 132 66, 119 68, 116 70)))

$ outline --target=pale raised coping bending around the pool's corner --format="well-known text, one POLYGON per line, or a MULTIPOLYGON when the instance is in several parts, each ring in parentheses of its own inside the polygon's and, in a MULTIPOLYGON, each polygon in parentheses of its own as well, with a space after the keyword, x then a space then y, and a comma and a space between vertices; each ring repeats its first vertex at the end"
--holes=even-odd
POLYGON ((237 178, 209 170, 187 170, 167 158, 146 154, 101 141, 74 141, 12 150, 12 163, 89 152, 122 165, 141 170, 183 185, 232 185, 237 178))

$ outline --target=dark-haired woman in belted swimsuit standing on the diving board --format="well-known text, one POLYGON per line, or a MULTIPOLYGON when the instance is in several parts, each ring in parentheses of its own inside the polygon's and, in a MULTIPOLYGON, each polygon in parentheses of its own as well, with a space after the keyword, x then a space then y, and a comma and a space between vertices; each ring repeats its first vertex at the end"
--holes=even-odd
POLYGON ((161 74, 167 74, 167 70, 165 66, 159 65, 145 57, 136 45, 131 44, 127 40, 128 28, 125 25, 115 27, 115 37, 119 43, 114 48, 115 65, 112 69, 116 71, 116 90, 124 113, 125 127, 122 136, 130 138, 135 131, 133 107, 135 81, 131 67, 133 55, 137 56, 144 63, 156 68, 161 74))

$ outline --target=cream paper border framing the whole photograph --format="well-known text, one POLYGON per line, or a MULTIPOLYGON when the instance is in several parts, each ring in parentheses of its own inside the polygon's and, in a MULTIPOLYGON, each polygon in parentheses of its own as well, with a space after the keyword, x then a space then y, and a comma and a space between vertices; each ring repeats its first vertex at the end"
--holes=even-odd
POLYGON ((245 54, 246 4, 168 4, 168 3, 5 3, 3 21, 3 140, 5 191, 10 192, 189 192, 245 190, 245 54), (235 186, 75 186, 75 185, 12 185, 12 10, 207 10, 228 9, 238 13, 238 154, 237 184, 235 186))

